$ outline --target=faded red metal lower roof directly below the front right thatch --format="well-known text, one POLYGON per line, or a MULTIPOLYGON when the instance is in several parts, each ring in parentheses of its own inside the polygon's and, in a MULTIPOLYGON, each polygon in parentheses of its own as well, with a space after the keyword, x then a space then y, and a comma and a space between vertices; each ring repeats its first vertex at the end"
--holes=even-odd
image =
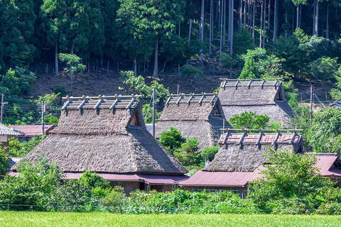
POLYGON ((246 186, 252 172, 208 172, 199 170, 189 179, 177 182, 183 186, 246 186))

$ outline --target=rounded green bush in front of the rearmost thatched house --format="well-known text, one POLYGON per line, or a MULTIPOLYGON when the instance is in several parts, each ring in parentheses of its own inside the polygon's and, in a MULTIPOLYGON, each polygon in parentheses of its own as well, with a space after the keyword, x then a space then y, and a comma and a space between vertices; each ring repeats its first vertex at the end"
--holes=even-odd
POLYGON ((249 129, 259 129, 266 128, 268 126, 270 117, 266 114, 256 114, 256 112, 244 111, 242 114, 234 115, 229 118, 229 123, 232 124, 234 128, 249 128, 249 129))

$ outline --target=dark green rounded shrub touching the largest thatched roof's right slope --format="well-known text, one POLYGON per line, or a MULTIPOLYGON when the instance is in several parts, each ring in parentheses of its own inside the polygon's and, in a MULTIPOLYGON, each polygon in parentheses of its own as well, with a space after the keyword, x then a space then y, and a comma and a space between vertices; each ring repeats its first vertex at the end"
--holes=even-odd
POLYGON ((178 128, 171 127, 169 131, 162 132, 160 135, 160 143, 172 154, 185 142, 186 138, 181 136, 178 128))

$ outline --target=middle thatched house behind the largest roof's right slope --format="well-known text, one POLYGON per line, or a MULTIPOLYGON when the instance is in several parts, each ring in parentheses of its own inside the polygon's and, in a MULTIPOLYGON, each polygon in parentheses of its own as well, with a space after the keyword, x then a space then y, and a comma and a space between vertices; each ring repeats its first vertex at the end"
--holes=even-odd
POLYGON ((227 127, 217 94, 171 95, 156 124, 156 138, 175 127, 183 137, 197 138, 202 150, 217 145, 224 124, 227 127))

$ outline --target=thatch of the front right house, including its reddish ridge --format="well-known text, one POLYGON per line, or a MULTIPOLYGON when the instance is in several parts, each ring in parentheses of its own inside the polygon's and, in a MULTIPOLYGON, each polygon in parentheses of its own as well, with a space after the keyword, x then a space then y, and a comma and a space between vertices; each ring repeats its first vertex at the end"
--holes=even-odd
POLYGON ((269 162, 264 157, 269 148, 286 148, 294 153, 303 151, 302 136, 296 133, 228 133, 220 137, 219 143, 215 159, 202 170, 252 172, 269 162))

